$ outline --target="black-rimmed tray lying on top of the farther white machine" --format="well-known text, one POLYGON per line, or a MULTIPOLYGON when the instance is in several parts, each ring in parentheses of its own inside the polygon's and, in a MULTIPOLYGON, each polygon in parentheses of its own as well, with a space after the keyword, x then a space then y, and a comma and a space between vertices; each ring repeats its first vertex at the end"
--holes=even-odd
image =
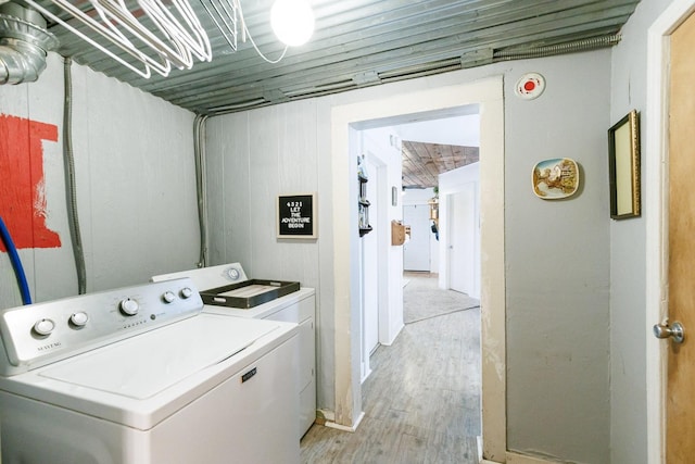
POLYGON ((200 292, 203 303, 248 310, 300 289, 299 281, 251 279, 200 292))

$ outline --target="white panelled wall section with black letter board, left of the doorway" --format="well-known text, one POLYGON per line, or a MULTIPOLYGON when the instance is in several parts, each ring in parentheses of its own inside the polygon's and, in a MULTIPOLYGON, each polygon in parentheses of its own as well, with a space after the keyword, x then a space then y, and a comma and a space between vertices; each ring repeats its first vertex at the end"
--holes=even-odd
POLYGON ((318 113, 314 100, 304 100, 213 117, 206 167, 211 264, 240 262, 252 278, 316 289, 317 401, 325 407, 333 403, 334 383, 332 368, 324 367, 332 365, 334 351, 332 214, 330 158, 318 148, 328 118, 318 113), (276 238, 277 196, 298 192, 317 192, 316 240, 276 238))

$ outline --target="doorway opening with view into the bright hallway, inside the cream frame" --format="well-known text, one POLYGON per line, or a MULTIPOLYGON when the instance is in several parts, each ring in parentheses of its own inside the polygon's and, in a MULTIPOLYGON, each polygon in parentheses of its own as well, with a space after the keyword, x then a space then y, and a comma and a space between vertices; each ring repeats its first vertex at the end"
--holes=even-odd
MULTIPOLYGON (((402 343, 418 337, 424 347, 438 344, 438 353, 431 354, 450 360, 448 371, 458 373, 467 381, 463 386, 459 379, 448 381, 442 377, 441 381, 426 387, 422 384, 401 386, 408 392, 425 388, 421 394, 406 402, 425 410, 428 398, 437 398, 429 401, 430 406, 445 403, 446 399, 442 397, 445 392, 452 402, 446 414, 452 432, 462 439, 475 439, 480 435, 481 424, 479 108, 477 104, 467 105, 448 110, 447 117, 438 116, 416 114, 389 118, 391 125, 361 130, 357 138, 357 151, 365 155, 362 163, 366 164, 369 173, 367 200, 374 217, 372 231, 363 236, 359 243, 361 374, 365 387, 362 400, 368 417, 374 414, 375 404, 383 409, 391 400, 399 401, 375 397, 372 385, 383 381, 381 375, 365 385, 375 365, 383 366, 390 369, 391 376, 404 379, 412 377, 399 374, 392 364, 408 366, 409 372, 419 373, 415 373, 416 376, 427 374, 426 365, 413 364, 409 356, 399 359, 404 350, 407 351, 402 343), (454 111, 457 114, 453 115, 454 111), (465 152, 473 152, 475 156, 466 156, 465 152), (388 195, 388 181, 384 181, 388 178, 403 180, 391 196, 388 195), (440 198, 444 206, 441 214, 435 208, 440 198), (380 240, 379 235, 388 231, 390 221, 401 221, 407 226, 406 240, 401 246, 380 240), (440 240, 441 226, 445 230, 440 240), (384 250, 379 250, 379 247, 384 250), (397 272, 399 267, 401 272, 397 272), (379 276, 388 276, 388 279, 379 279, 379 276), (403 288, 402 301, 397 302, 402 313, 393 311, 389 297, 397 296, 395 291, 389 292, 390 287, 403 288), (454 314, 471 309, 475 314, 463 318, 460 314, 454 314), (429 321, 434 317, 446 318, 447 323, 429 321), (391 327, 380 331, 380 322, 388 324, 390 318, 397 322, 397 331, 391 327), (425 323, 417 327, 408 326, 421 322, 425 323), (442 337, 439 337, 431 333, 440 330, 434 328, 435 323, 456 328, 450 327, 447 336, 440 334, 442 337), (395 336, 406 340, 400 342, 394 340, 395 336), (466 343, 462 344, 463 340, 466 343), (397 347, 391 347, 393 341, 399 343, 397 347), (377 349, 378 354, 372 360, 377 349), (466 351, 464 355, 462 349, 466 351)), ((364 124, 377 125, 379 122, 364 124)), ((396 404, 394 407, 400 406, 396 404)), ((429 413, 442 414, 431 407, 429 413)))

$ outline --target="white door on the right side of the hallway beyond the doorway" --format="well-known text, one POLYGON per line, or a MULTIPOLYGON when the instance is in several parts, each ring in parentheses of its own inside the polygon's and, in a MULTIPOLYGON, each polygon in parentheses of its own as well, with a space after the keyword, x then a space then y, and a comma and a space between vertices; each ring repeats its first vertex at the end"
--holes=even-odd
POLYGON ((475 294, 477 221, 473 184, 448 196, 448 287, 475 294))

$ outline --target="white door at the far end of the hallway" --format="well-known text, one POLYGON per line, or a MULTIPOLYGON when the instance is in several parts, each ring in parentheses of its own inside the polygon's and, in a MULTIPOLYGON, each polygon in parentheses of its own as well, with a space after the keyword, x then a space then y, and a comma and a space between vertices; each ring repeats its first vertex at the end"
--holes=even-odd
POLYGON ((410 226, 410 239, 403 246, 404 271, 430 271, 430 206, 403 206, 403 224, 410 226))

